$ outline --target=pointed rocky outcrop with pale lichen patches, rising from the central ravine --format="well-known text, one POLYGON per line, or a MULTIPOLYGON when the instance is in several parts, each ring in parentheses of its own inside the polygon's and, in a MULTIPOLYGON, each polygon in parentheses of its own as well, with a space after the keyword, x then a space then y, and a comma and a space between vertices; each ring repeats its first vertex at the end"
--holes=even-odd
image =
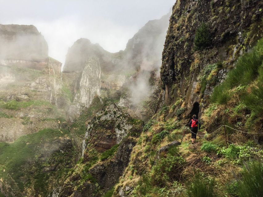
POLYGON ((142 121, 122 113, 115 104, 98 112, 87 127, 83 163, 65 181, 59 196, 101 196, 111 189, 127 167, 142 127, 142 121), (93 178, 75 190, 74 185, 82 181, 80 172, 83 169, 88 169, 85 176, 89 174, 93 178))

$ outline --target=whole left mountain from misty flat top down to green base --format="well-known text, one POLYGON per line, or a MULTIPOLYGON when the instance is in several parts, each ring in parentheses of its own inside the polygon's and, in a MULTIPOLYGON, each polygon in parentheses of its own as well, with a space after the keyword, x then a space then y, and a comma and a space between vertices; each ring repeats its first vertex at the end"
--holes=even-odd
POLYGON ((32 25, 0 25, 0 59, 0 195, 47 196, 75 157, 61 63, 32 25))

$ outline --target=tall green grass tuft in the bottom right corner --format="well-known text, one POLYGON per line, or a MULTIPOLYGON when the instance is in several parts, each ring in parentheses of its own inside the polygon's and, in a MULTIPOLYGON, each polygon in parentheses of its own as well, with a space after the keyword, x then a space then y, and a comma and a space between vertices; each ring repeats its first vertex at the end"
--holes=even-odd
POLYGON ((239 197, 260 197, 263 194, 263 163, 247 164, 241 172, 242 179, 238 181, 239 197))

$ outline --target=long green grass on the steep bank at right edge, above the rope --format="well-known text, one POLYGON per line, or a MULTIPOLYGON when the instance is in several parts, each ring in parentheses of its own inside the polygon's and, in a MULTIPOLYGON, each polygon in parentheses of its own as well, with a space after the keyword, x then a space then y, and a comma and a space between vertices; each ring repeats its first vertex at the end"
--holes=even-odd
POLYGON ((239 91, 241 101, 251 108, 252 111, 262 113, 262 78, 263 78, 263 38, 257 43, 249 53, 242 55, 236 62, 236 67, 228 72, 225 81, 216 86, 211 96, 213 103, 227 104, 232 98, 234 87, 249 86, 256 79, 256 87, 252 87, 252 92, 239 91))

